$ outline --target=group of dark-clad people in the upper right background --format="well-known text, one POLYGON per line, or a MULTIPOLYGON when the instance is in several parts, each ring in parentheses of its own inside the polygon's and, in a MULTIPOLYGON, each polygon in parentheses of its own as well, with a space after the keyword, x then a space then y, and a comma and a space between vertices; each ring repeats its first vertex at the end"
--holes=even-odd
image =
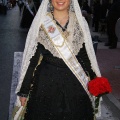
POLYGON ((95 0, 91 7, 88 1, 84 0, 82 5, 83 16, 85 16, 88 24, 92 18, 93 32, 105 32, 108 35, 108 42, 105 46, 109 49, 117 48, 118 38, 115 33, 117 20, 120 18, 120 0, 113 0, 112 3, 108 0, 95 0))

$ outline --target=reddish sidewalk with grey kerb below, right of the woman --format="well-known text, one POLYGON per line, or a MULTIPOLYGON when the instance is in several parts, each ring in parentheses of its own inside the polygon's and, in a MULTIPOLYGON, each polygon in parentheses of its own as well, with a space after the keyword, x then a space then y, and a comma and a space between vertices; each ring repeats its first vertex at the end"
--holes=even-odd
MULTIPOLYGON (((118 41, 117 49, 109 49, 109 47, 104 46, 105 42, 108 41, 107 34, 92 31, 93 28, 91 28, 92 36, 98 36, 100 41, 98 42, 96 57, 101 74, 108 78, 112 87, 112 93, 103 97, 104 106, 107 106, 112 116, 116 114, 113 118, 104 118, 103 120, 120 120, 120 41, 118 41)), ((103 114, 103 116, 106 115, 103 114)))

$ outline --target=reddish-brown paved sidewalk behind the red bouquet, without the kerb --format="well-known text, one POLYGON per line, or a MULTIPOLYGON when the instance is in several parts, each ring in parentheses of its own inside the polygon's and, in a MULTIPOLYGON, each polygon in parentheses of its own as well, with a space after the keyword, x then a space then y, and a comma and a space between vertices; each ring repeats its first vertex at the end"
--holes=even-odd
MULTIPOLYGON (((99 36, 98 49, 97 49, 97 60, 102 73, 109 79, 112 86, 112 93, 107 95, 108 97, 114 97, 116 101, 120 102, 120 41, 118 41, 117 49, 109 49, 104 46, 107 42, 108 37, 106 34, 91 32, 93 36, 99 36)), ((117 105, 120 109, 120 104, 117 105)))

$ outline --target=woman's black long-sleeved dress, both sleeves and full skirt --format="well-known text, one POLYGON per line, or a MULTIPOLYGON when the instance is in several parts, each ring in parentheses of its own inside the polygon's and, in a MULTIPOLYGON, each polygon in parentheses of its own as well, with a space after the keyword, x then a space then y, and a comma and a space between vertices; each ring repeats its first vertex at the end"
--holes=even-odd
MULTIPOLYGON (((73 24, 78 25, 77 20, 75 21, 73 16, 75 15, 71 15, 70 19, 74 18, 73 24)), ((56 24, 61 27, 58 22, 56 24)), ((66 23, 66 27, 69 24, 71 24, 71 20, 66 23)), ((64 28, 61 27, 61 29, 65 31, 64 28)), ((79 33, 75 34, 79 35, 79 38, 82 35, 80 30, 79 33)), ((48 49, 45 49, 43 45, 46 42, 51 44, 48 38, 45 37, 47 37, 46 34, 40 29, 36 53, 31 59, 22 87, 18 93, 19 96, 27 96, 30 85, 33 83, 25 120, 93 120, 92 103, 87 93, 64 61, 51 53, 50 50, 54 48, 49 46, 48 49), (43 59, 41 64, 37 66, 33 77, 33 71, 38 63, 40 54, 42 54, 43 59)), ((83 41, 79 41, 82 40, 73 39, 71 44, 76 44, 75 46, 78 47, 79 52, 76 57, 86 74, 89 73, 91 79, 93 79, 96 75, 91 69, 85 45, 83 41), (77 45, 77 43, 80 44, 77 45)))

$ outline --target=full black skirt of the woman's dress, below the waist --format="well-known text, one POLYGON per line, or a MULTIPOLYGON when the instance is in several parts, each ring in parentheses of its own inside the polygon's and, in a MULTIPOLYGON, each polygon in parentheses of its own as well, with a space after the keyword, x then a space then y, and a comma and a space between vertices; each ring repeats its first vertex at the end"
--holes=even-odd
POLYGON ((66 65, 56 63, 43 60, 37 67, 24 120, 93 120, 82 85, 66 65))

